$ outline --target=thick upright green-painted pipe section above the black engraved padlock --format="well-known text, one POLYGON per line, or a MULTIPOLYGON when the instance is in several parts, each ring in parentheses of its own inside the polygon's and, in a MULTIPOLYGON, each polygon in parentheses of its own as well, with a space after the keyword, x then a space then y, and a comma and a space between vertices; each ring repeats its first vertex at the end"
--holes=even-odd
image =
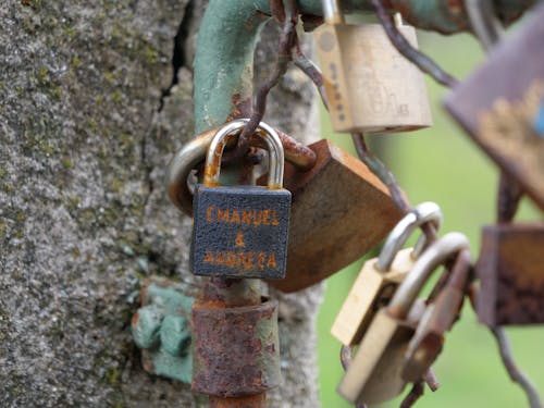
POLYGON ((195 132, 223 124, 233 99, 251 97, 254 51, 268 16, 267 1, 211 0, 200 25, 195 55, 195 132))

